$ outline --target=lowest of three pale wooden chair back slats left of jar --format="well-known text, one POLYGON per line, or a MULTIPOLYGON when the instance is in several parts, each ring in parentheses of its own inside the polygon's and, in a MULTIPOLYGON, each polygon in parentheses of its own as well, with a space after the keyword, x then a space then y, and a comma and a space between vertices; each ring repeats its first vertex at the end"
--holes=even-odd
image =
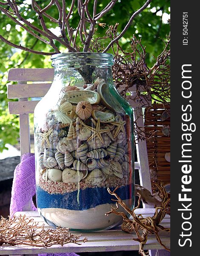
POLYGON ((39 101, 27 101, 27 102, 9 102, 10 114, 29 114, 34 112, 34 108, 39 101))

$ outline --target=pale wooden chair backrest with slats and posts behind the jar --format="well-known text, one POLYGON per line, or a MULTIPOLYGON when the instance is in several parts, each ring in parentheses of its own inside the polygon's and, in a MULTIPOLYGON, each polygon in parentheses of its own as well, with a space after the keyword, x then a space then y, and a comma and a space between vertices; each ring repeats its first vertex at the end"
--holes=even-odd
MULTIPOLYGON (((21 155, 30 152, 29 113, 34 112, 38 100, 29 98, 43 97, 51 87, 54 78, 54 69, 11 69, 8 81, 17 81, 17 84, 8 84, 8 98, 18 99, 18 102, 9 102, 9 112, 20 116, 20 151, 21 155)), ((144 129, 141 98, 137 98, 136 86, 129 89, 129 102, 134 109, 134 119, 137 126, 144 129)), ((149 103, 149 102, 148 102, 149 103)), ((140 184, 151 191, 149 163, 146 142, 136 144, 137 162, 135 169, 139 169, 140 184)))

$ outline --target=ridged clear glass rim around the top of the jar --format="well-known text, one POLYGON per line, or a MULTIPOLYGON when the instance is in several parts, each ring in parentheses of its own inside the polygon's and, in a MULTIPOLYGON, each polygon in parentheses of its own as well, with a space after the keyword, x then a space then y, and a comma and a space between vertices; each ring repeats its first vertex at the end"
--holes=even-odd
POLYGON ((57 53, 51 56, 52 66, 69 66, 73 64, 111 67, 114 57, 110 53, 102 52, 67 52, 57 53))

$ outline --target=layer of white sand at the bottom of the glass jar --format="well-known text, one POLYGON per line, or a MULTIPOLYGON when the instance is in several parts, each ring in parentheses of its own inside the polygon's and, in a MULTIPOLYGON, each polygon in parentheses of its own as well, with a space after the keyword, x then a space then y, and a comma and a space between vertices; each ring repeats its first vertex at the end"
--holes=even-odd
MULTIPOLYGON (((127 206, 131 207, 132 199, 123 201, 127 206)), ((115 204, 101 204, 95 208, 83 211, 74 211, 60 208, 43 208, 39 209, 41 214, 56 226, 69 227, 72 230, 105 230, 122 224, 122 217, 111 213, 105 216, 106 212, 111 210, 111 206, 115 204)), ((127 212, 119 205, 117 211, 127 212)))

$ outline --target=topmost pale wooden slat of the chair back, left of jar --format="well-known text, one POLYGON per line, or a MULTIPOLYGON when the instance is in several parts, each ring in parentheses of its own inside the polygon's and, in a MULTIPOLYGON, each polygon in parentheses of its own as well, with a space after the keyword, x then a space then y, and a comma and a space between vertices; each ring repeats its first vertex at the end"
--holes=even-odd
POLYGON ((8 81, 53 81, 53 68, 12 68, 9 70, 8 81))

